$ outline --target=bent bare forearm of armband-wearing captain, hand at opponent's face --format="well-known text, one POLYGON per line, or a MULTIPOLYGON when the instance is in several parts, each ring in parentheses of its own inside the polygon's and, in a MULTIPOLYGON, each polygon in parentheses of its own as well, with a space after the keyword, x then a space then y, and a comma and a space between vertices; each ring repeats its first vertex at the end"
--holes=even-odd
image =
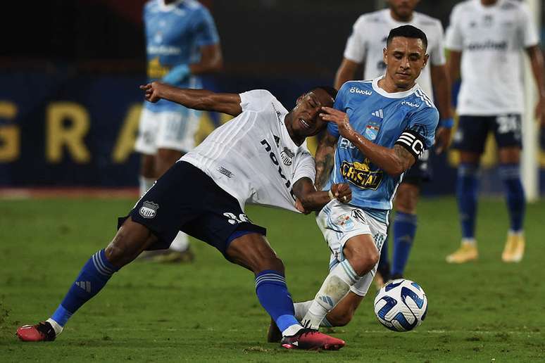
POLYGON ((325 121, 336 123, 339 133, 344 138, 351 141, 372 163, 391 176, 397 177, 415 163, 415 156, 399 144, 394 145, 394 148, 385 148, 365 139, 351 127, 346 113, 330 107, 322 107, 322 110, 324 112, 320 113, 320 117, 325 121))

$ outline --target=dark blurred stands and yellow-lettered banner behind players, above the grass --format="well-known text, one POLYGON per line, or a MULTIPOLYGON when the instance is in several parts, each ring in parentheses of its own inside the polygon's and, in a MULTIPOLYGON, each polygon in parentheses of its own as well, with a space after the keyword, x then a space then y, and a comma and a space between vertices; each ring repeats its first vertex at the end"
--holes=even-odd
MULTIPOLYGON (((287 107, 308 87, 333 83, 353 22, 384 6, 378 0, 202 2, 215 18, 225 58, 225 70, 205 77, 205 88, 265 88, 287 107)), ((458 2, 422 0, 417 11, 446 27, 458 2)), ((32 31, 1 25, 10 36, 0 56, 0 188, 137 186, 139 156, 132 145, 143 99, 138 85, 146 75, 144 3, 42 1, 32 4, 32 13, 25 2, 7 4, 6 14, 25 13, 32 31)), ((455 100, 457 89, 454 84, 455 100)), ((198 139, 226 120, 205 113, 198 139)), ((489 141, 481 192, 499 193, 489 141)), ((454 151, 434 158, 435 179, 425 193, 453 193, 454 165, 454 151)))

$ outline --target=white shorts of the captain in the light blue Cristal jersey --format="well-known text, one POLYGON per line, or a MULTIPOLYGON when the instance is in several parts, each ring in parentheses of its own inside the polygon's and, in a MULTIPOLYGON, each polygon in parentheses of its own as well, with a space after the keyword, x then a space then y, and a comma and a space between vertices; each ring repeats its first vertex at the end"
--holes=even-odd
MULTIPOLYGON (((353 205, 331 200, 316 216, 316 223, 322 231, 331 250, 330 269, 344 261, 343 248, 346 241, 353 236, 370 234, 380 253, 382 243, 386 240, 387 224, 368 215, 365 210, 353 205)), ((356 282, 350 290, 360 296, 365 296, 377 272, 377 265, 356 282)))

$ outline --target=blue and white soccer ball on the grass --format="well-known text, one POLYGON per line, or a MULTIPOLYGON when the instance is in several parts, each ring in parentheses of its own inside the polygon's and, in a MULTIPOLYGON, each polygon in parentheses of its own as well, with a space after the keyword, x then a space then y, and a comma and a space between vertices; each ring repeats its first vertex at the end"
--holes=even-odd
POLYGON ((424 290, 415 282, 396 279, 382 286, 375 298, 375 315, 393 331, 410 331, 422 324, 427 313, 424 290))

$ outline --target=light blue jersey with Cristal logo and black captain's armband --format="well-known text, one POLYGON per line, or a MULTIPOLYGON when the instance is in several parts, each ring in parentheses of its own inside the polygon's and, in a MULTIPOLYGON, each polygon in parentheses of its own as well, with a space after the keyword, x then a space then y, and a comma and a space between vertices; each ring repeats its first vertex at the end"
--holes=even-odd
MULTIPOLYGON (((434 143, 439 112, 418 84, 408 91, 389 94, 378 87, 379 79, 346 82, 339 89, 334 108, 345 112, 353 129, 366 139, 386 148, 400 144, 418 158, 434 143)), ((327 132, 339 137, 339 141, 325 189, 330 189, 331 183, 349 183, 351 204, 385 219, 403 174, 391 177, 371 163, 356 146, 339 135, 334 123, 327 125, 327 132)))

